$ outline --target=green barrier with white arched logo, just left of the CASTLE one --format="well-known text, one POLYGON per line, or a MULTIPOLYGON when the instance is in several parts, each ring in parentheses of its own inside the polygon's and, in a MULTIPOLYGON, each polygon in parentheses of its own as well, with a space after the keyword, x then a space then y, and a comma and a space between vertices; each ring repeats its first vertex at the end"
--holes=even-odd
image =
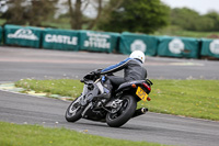
POLYGON ((41 47, 42 32, 43 30, 38 27, 5 25, 4 44, 38 48, 41 47))

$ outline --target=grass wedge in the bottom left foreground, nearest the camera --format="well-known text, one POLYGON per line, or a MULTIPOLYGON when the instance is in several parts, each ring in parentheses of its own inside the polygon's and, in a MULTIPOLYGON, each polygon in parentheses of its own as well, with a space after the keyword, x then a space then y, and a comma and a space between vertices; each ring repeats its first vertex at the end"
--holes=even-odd
POLYGON ((66 128, 0 122, 1 146, 162 146, 147 142, 112 139, 66 128))

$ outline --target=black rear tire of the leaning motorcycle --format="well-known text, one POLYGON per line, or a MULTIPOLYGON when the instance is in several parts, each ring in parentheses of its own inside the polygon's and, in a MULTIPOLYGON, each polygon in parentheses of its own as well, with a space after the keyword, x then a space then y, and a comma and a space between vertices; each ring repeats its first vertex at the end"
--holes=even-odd
POLYGON ((116 113, 107 113, 106 114, 106 123, 112 127, 119 127, 128 122, 137 108, 137 101, 132 96, 124 96, 120 100, 123 100, 123 105, 120 110, 116 113))

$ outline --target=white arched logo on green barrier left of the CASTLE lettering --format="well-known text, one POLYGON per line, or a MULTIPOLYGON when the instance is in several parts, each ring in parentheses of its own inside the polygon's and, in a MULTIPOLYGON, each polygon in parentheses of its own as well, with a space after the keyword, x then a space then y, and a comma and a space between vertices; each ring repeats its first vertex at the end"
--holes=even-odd
POLYGON ((32 32, 32 30, 27 29, 20 29, 14 34, 8 34, 8 37, 38 41, 38 37, 32 32))

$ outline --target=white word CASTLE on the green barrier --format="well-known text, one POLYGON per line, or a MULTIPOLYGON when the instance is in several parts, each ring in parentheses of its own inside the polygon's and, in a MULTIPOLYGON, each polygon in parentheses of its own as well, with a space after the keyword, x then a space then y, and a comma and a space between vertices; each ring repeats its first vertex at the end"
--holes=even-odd
POLYGON ((68 35, 46 34, 45 42, 77 45, 78 44, 78 37, 77 36, 71 37, 71 36, 68 36, 68 35))

